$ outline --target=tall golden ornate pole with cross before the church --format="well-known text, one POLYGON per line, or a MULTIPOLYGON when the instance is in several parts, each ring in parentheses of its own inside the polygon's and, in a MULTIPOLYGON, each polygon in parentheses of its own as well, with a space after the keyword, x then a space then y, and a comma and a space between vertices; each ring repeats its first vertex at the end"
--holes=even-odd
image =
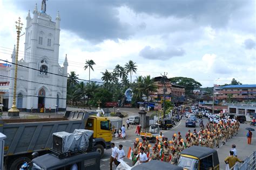
POLYGON ((16 55, 15 55, 15 76, 14 76, 14 97, 12 99, 12 106, 8 110, 8 117, 19 117, 19 110, 16 106, 16 89, 17 89, 17 72, 18 72, 18 53, 19 53, 19 37, 21 37, 22 25, 21 17, 19 17, 18 22, 16 21, 17 30, 17 45, 16 45, 16 55))

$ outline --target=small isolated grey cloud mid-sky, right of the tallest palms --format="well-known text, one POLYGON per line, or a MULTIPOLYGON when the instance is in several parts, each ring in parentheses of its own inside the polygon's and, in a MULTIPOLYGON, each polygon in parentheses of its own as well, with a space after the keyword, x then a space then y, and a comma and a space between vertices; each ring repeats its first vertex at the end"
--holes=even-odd
POLYGON ((175 56, 183 56, 185 51, 180 48, 170 47, 166 50, 159 48, 152 48, 151 46, 145 46, 140 52, 139 55, 147 59, 158 59, 158 60, 167 60, 175 56))

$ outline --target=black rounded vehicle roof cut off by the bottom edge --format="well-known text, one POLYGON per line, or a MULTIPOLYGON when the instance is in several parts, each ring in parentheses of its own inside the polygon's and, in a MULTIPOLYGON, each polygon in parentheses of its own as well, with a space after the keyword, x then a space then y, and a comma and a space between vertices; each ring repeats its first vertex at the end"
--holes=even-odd
POLYGON ((172 169, 172 170, 183 170, 183 168, 172 165, 168 162, 162 162, 159 160, 151 160, 149 162, 134 166, 132 170, 155 170, 155 169, 172 169))

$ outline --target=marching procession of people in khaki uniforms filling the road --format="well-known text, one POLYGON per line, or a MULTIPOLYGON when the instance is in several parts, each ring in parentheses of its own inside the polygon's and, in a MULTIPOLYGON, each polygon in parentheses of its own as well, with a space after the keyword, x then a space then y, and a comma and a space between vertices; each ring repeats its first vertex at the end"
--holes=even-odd
POLYGON ((193 145, 210 147, 214 146, 220 147, 220 143, 226 144, 228 139, 231 139, 234 135, 238 134, 239 121, 228 119, 227 117, 215 117, 215 115, 209 116, 209 122, 206 126, 202 126, 200 131, 197 132, 196 129, 193 131, 188 130, 188 132, 183 136, 180 132, 178 134, 173 134, 172 139, 168 140, 160 132, 156 137, 156 143, 152 147, 146 139, 143 142, 139 142, 136 138, 134 146, 132 148, 133 165, 139 159, 138 154, 142 151, 147 155, 148 159, 161 160, 165 162, 170 162, 171 164, 177 164, 179 160, 179 155, 183 149, 191 147, 193 145))

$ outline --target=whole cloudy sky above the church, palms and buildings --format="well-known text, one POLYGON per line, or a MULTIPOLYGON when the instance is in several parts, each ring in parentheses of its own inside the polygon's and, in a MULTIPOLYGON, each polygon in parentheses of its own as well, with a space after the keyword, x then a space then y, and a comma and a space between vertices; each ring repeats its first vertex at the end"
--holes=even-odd
MULTIPOLYGON (((25 24, 28 10, 33 11, 36 3, 41 9, 41 2, 0 0, 1 59, 10 60, 16 43, 14 22, 20 16, 25 24)), ((68 70, 79 78, 89 79, 89 71, 83 69, 86 59, 96 63, 91 79, 133 60, 138 72, 132 79, 167 72, 167 77, 191 77, 204 87, 230 83, 232 78, 256 84, 254 0, 49 0, 46 4, 53 21, 60 12, 59 63, 68 54, 68 70)))

